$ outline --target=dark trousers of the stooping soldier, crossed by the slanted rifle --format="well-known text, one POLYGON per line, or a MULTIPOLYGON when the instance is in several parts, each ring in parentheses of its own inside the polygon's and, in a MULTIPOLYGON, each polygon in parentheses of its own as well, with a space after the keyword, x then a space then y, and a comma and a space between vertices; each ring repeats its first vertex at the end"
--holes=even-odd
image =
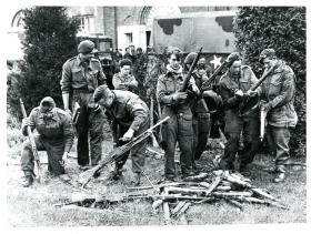
MULTIPOLYGON (((150 128, 150 119, 148 118, 139 128, 139 130, 134 133, 134 138, 143 133, 146 130, 150 128)), ((118 133, 117 139, 120 139, 123 136, 123 134, 129 130, 129 128, 124 128, 119 125, 118 126, 118 133)), ((134 145, 129 152, 124 153, 120 160, 116 162, 116 169, 121 170, 123 165, 126 164, 129 155, 131 155, 132 160, 132 172, 133 173, 141 173, 143 166, 144 166, 144 161, 146 161, 146 147, 147 147, 148 139, 141 141, 137 145, 134 145)), ((121 146, 126 143, 118 143, 117 145, 121 146)))

